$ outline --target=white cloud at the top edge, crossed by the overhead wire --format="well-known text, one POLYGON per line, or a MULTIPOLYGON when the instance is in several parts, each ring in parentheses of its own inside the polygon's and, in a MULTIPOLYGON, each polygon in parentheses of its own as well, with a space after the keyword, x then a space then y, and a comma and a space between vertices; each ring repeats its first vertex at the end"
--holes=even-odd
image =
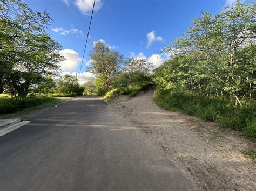
MULTIPOLYGON (((74 4, 84 15, 91 15, 93 0, 75 0, 74 4)), ((96 0, 94 11, 98 11, 102 8, 101 0, 96 0)))

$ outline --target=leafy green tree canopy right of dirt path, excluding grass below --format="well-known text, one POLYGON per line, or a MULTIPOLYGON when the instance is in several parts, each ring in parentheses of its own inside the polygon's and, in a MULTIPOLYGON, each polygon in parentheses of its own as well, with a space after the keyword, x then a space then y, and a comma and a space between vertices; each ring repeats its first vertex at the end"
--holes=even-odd
POLYGON ((185 36, 167 45, 170 60, 154 81, 162 90, 231 97, 235 104, 255 97, 255 6, 240 1, 218 15, 203 13, 185 36))

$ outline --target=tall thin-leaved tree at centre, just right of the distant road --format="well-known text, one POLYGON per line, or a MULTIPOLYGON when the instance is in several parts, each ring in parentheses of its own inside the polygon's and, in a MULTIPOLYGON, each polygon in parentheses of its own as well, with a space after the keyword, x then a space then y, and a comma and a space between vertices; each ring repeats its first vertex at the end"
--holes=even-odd
POLYGON ((91 67, 88 70, 102 79, 105 91, 109 91, 114 76, 123 65, 124 56, 116 51, 111 51, 109 45, 102 41, 93 44, 90 56, 91 67))

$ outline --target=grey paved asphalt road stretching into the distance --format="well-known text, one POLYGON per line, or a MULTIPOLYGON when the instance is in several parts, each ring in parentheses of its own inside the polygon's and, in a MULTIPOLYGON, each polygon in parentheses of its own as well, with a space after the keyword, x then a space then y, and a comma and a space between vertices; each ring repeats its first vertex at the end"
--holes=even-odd
POLYGON ((82 96, 0 137, 0 190, 193 190, 138 129, 82 96))

